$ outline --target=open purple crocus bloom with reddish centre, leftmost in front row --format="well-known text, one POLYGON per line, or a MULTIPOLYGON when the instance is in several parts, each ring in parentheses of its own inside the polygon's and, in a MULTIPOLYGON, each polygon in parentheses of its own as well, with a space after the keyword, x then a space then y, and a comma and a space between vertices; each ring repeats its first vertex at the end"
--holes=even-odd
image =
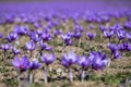
POLYGON ((29 69, 29 61, 26 55, 24 55, 22 59, 15 57, 12 61, 12 65, 20 71, 20 73, 25 72, 29 69))

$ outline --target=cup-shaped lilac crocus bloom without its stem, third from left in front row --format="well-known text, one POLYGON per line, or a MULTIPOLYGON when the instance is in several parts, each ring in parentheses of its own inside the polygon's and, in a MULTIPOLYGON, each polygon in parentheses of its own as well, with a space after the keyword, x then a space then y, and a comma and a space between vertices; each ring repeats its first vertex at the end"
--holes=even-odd
POLYGON ((55 60, 56 60, 56 57, 55 57, 55 53, 51 53, 51 54, 43 54, 40 57, 40 60, 46 64, 46 65, 49 65, 51 64, 55 60))

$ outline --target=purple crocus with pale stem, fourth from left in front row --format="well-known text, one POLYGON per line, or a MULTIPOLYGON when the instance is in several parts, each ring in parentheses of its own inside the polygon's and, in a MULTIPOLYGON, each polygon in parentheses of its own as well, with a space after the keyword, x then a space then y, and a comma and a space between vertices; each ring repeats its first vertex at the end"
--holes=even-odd
POLYGON ((78 62, 79 57, 74 52, 69 52, 68 54, 64 54, 61 59, 61 63, 64 67, 69 71, 69 78, 70 82, 73 82, 73 74, 71 72, 70 66, 78 62))

